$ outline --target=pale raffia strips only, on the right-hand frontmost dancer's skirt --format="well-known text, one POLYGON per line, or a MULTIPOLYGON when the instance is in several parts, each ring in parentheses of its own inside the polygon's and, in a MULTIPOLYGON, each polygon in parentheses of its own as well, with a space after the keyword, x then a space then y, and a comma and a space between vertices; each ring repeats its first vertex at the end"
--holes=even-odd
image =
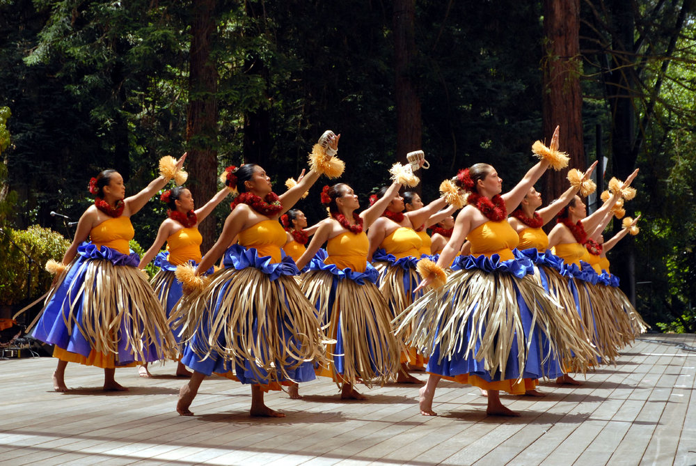
MULTIPOLYGON (((464 357, 473 356, 484 362, 486 370, 494 375, 498 371, 505 373, 514 336, 517 335, 517 362, 523 368, 527 358, 527 336, 515 286, 534 316, 538 316, 540 311, 548 315, 551 307, 558 306, 530 276, 514 279, 504 273, 457 270, 450 275, 445 286, 426 293, 393 321, 397 337, 404 339, 413 326, 411 336, 405 338, 407 345, 413 345, 425 354, 434 345, 440 345, 438 363, 461 353, 464 357), (434 325, 439 327, 437 335, 433 331, 434 325), (477 350, 478 344, 480 348, 477 350)), ((542 326, 537 328, 544 331, 542 326)))

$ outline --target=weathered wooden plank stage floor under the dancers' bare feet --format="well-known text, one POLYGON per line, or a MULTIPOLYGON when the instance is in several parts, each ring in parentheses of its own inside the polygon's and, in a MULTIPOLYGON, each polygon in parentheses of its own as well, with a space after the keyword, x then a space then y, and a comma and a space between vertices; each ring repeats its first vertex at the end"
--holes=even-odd
POLYGON ((440 416, 422 417, 416 387, 363 387, 369 401, 342 402, 321 379, 300 387, 303 400, 267 396, 285 419, 252 419, 249 387, 219 377, 203 382, 196 416, 180 417, 171 363, 150 380, 118 370, 127 393, 104 393, 103 371, 71 364, 74 390, 58 394, 55 359, 0 361, 0 464, 693 465, 694 346, 693 334, 644 335, 581 387, 502 396, 520 418, 486 417, 477 389, 452 382, 438 387, 440 416))

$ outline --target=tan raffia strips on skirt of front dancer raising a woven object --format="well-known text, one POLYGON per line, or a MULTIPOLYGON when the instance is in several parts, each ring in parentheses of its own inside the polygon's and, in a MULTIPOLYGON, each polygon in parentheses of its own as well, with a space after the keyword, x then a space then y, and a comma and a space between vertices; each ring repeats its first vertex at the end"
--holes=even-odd
POLYGON ((292 380, 286 366, 325 364, 315 309, 294 277, 270 281, 253 267, 230 267, 210 278, 204 290, 182 298, 170 317, 184 319, 184 334, 196 325, 195 343, 189 339, 189 345, 201 360, 215 354, 241 366, 248 361, 255 377, 271 381, 292 380))

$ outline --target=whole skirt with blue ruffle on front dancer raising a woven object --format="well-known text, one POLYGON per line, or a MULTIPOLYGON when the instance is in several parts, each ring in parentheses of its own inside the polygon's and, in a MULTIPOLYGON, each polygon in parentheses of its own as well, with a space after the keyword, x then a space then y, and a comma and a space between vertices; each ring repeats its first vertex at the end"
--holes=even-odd
POLYGON ((223 264, 171 316, 191 335, 182 362, 205 375, 233 372, 242 383, 273 388, 313 380, 313 362, 324 362, 322 334, 292 258, 271 263, 235 244, 223 264))

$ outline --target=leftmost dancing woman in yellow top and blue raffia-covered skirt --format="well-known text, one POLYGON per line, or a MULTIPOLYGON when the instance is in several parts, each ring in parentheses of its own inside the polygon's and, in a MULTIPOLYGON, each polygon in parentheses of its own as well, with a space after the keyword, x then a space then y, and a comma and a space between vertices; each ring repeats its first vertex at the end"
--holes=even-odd
POLYGON ((62 263, 47 264, 56 278, 33 331, 35 338, 55 345, 56 391, 68 391, 68 362, 104 368, 104 390, 127 390, 114 379, 116 367, 157 361, 175 351, 164 309, 128 242, 135 233, 131 215, 171 178, 185 181, 180 171, 185 159, 186 154, 178 162, 163 157, 161 176, 127 198, 118 171, 104 170, 90 180, 95 203, 80 217, 62 263))

